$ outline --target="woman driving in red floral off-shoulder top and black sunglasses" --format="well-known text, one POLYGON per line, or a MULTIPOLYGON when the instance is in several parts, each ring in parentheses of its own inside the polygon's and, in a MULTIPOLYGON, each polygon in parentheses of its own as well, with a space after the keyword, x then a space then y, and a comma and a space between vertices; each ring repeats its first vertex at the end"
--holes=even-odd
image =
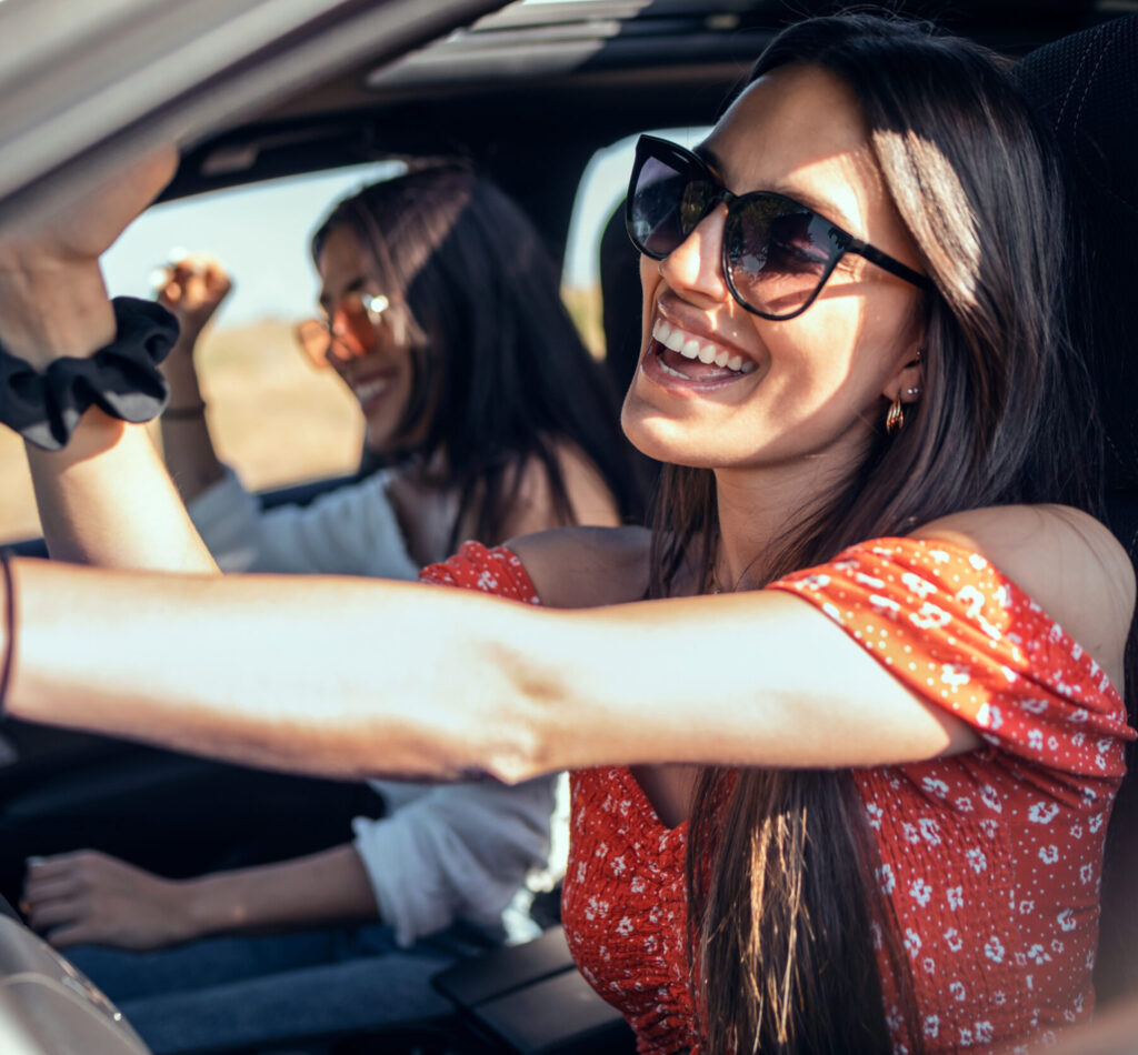
MULTIPOLYGON (((624 424, 668 463, 650 534, 471 546, 424 573, 522 605, 17 563, 8 706, 315 772, 575 769, 566 929, 643 1052, 1044 1042, 1094 1004, 1133 736, 1113 688, 1133 578, 1085 512, 1077 257, 1046 142, 979 49, 817 19, 776 38, 693 155, 643 143, 629 197, 644 322, 624 424), (139 656, 154 610, 192 661, 139 656), (81 637, 84 613, 114 629, 81 637), (256 643, 315 630, 338 663, 363 624, 388 630, 413 714, 362 670, 318 706, 256 643)), ((19 297, 14 350, 110 338, 92 250, 114 232, 83 232, 41 235, 20 275, 81 256, 91 317, 19 297)), ((124 500, 160 484, 133 437, 91 412, 34 455, 66 555, 125 563, 66 521, 105 508, 100 465, 130 466, 124 500)), ((135 566, 204 570, 175 513, 180 553, 140 531, 135 566)))

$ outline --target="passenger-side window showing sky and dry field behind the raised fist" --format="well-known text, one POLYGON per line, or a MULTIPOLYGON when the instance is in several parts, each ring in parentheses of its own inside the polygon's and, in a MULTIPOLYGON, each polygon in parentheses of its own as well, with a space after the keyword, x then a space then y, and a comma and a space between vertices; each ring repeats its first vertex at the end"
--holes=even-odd
MULTIPOLYGON (((335 202, 401 167, 355 166, 155 206, 104 257, 115 294, 152 297, 162 265, 185 252, 211 254, 229 272, 233 289, 196 360, 217 452, 255 490, 358 464, 358 405, 300 355, 292 329, 315 313, 313 230, 335 202)), ((23 442, 8 430, 0 430, 0 543, 38 535, 23 442)))

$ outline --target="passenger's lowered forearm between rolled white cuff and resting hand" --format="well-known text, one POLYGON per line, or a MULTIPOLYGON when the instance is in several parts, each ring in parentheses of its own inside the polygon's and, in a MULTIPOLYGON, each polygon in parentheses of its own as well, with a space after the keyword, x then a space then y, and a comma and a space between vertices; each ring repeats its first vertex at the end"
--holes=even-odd
POLYGON ((378 919, 368 875, 349 845, 188 880, 182 899, 196 937, 378 919))

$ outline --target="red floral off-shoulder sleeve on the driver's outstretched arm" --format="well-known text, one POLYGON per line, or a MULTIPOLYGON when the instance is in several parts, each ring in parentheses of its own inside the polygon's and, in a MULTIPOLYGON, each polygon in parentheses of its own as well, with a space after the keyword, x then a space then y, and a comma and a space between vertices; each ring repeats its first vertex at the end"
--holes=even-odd
POLYGON ((998 749, 1078 776, 1124 773, 1135 733, 1106 674, 979 554, 877 539, 770 588, 819 608, 912 691, 998 749))

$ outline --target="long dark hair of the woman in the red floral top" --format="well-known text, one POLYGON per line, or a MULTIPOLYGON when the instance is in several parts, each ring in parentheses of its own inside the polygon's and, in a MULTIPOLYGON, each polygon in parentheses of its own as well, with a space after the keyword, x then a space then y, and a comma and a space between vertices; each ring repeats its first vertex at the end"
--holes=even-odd
MULTIPOLYGON (((998 61, 931 26, 869 15, 781 33, 750 81, 805 64, 860 102, 884 183, 935 290, 924 379, 894 437, 825 499, 790 509, 761 582, 949 513, 1058 501, 1097 510, 1091 389, 1064 318, 1070 236, 1047 135, 998 61)), ((881 419, 885 401, 881 405, 881 419)), ((651 593, 686 559, 710 575, 710 471, 669 466, 651 593)), ((709 1052, 892 1050, 874 934, 885 941, 909 1050, 912 981, 873 880, 874 842, 849 771, 700 778, 688 842, 692 970, 709 1052)))

